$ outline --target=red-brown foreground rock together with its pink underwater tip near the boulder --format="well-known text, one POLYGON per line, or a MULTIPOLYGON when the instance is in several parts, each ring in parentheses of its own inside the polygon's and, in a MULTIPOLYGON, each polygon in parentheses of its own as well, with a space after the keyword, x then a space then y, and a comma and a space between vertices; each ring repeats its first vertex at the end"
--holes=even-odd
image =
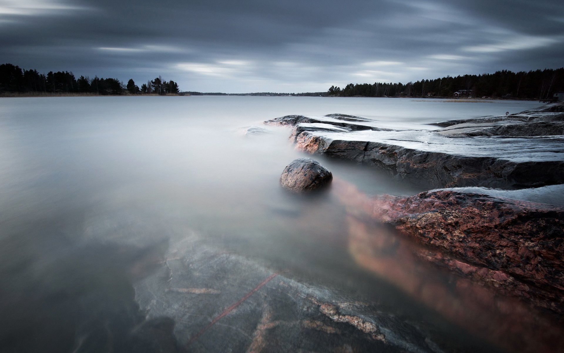
POLYGON ((428 246, 426 260, 564 314, 564 209, 448 189, 369 198, 336 181, 334 190, 352 214, 428 246))

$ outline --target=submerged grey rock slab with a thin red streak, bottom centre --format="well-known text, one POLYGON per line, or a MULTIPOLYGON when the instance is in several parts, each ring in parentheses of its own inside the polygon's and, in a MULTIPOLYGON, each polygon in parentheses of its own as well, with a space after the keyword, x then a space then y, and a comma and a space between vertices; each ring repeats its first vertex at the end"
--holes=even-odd
POLYGON ((166 338, 173 328, 178 345, 172 351, 442 351, 417 324, 244 256, 197 245, 193 237, 172 244, 161 271, 135 286, 149 323, 160 317, 175 323, 151 329, 166 338))

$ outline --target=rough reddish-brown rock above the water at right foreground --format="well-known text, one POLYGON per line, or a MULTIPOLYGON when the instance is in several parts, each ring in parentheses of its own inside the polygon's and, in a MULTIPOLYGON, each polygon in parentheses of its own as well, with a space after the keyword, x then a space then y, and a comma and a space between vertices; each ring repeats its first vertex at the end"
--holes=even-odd
POLYGON ((396 203, 394 212, 396 229, 421 243, 548 293, 564 290, 561 208, 439 190, 396 203))

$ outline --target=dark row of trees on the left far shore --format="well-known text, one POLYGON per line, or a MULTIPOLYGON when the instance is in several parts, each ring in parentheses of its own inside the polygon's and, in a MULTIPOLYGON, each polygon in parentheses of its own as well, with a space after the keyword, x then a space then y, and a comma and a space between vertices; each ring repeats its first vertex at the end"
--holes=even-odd
POLYGON ((103 79, 95 76, 80 76, 76 79, 72 72, 50 71, 47 75, 35 69, 21 69, 12 64, 0 65, 0 92, 59 92, 59 93, 95 93, 108 94, 168 94, 178 93, 178 84, 173 80, 165 81, 161 76, 148 80, 141 88, 129 79, 127 84, 118 79, 103 79))

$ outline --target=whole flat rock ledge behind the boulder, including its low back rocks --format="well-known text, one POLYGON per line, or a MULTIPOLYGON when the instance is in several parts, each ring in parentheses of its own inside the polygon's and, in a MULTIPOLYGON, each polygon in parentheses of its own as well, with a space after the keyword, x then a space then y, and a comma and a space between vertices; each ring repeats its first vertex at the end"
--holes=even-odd
POLYGON ((564 183, 562 103, 510 116, 441 123, 444 130, 390 130, 340 114, 289 115, 296 148, 384 169, 429 188, 518 189, 564 183))

